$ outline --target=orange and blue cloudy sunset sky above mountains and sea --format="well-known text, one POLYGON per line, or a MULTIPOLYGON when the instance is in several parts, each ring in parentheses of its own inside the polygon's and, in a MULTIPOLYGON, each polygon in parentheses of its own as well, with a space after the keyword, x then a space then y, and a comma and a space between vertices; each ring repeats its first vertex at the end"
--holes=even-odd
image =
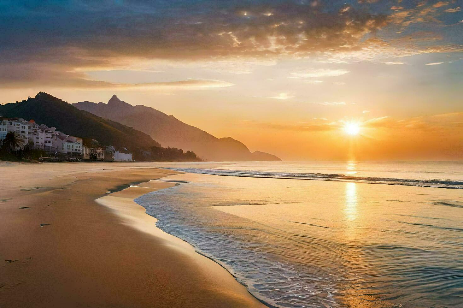
POLYGON ((462 7, 0 0, 0 103, 116 94, 286 160, 463 160, 462 7))

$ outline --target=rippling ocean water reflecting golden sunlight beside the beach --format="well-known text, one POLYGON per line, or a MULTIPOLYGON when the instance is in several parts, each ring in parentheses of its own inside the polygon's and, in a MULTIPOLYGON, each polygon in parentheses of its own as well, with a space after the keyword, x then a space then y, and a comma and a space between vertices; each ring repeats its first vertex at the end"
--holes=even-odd
POLYGON ((192 167, 136 202, 269 306, 463 306, 462 162, 192 167))

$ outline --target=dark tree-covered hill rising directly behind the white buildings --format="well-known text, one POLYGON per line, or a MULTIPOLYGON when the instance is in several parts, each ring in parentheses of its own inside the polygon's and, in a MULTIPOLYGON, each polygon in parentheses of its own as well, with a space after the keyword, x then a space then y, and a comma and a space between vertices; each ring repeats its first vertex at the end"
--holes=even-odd
MULTIPOLYGON (((0 105, 0 116, 33 119, 37 123, 54 126, 56 130, 72 136, 96 139, 102 145, 113 145, 116 150, 124 151, 126 148, 136 154, 137 160, 156 159, 156 155, 163 155, 163 157, 174 155, 174 159, 177 159, 182 155, 178 154, 178 151, 161 148, 161 145, 146 133, 85 110, 79 110, 44 92, 38 92, 35 98, 19 103, 0 105)), ((188 157, 191 157, 191 153, 188 157)))

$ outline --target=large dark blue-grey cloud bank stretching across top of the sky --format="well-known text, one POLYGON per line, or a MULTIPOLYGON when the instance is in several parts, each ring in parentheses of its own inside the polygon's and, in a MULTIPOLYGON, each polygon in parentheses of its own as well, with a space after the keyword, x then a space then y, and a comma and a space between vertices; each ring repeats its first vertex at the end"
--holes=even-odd
MULTIPOLYGON (((376 31, 421 20, 410 15, 425 14, 426 8, 441 10, 429 4, 419 11, 394 12, 378 5, 306 0, 6 0, 0 2, 0 69, 13 83, 42 76, 60 85, 66 83, 63 78, 72 77, 86 86, 88 80, 75 70, 112 67, 135 58, 306 56, 362 52, 382 45, 393 52, 388 42, 380 45, 372 39, 376 31)), ((434 19, 433 15, 425 20, 434 19)))

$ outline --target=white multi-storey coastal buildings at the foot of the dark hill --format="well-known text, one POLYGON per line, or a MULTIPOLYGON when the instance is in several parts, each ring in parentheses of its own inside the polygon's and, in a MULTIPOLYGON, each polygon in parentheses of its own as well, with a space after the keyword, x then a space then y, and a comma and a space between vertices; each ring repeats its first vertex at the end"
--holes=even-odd
POLYGON ((42 150, 49 154, 41 160, 54 161, 88 160, 88 161, 134 161, 133 154, 116 151, 111 145, 100 145, 97 140, 89 139, 85 143, 82 138, 70 136, 57 131, 55 127, 38 125, 34 120, 22 118, 0 117, 0 147, 9 132, 22 140, 22 146, 33 150, 42 150))

